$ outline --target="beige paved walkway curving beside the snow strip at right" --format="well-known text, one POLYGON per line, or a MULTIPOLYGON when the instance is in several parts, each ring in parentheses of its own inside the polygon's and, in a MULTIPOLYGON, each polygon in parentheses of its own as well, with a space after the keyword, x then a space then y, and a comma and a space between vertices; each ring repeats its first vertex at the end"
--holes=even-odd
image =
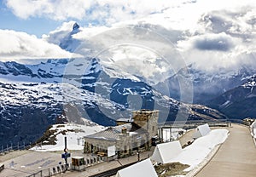
POLYGON ((256 176, 256 148, 248 128, 233 124, 230 136, 198 177, 256 176))

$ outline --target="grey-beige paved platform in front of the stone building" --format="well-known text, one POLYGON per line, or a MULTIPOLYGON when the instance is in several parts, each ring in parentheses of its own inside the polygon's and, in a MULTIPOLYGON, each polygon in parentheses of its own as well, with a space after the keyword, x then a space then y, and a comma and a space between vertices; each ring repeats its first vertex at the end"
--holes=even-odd
MULTIPOLYGON (((153 151, 154 148, 152 148, 152 151, 140 153, 140 158, 144 159, 150 157, 153 151)), ((83 154, 82 151, 71 151, 71 153, 73 156, 87 156, 83 154)), ((40 170, 44 171, 43 174, 49 174, 49 168, 57 167, 60 162, 62 162, 62 164, 64 163, 64 160, 61 159, 61 152, 14 151, 7 155, 0 156, 0 163, 3 163, 5 166, 0 176, 26 177, 40 170)), ((65 174, 56 174, 55 176, 90 176, 132 162, 137 162, 137 155, 92 165, 85 168, 85 171, 67 171, 65 174)), ((70 158, 68 159, 68 163, 71 163, 70 158)), ((37 176, 40 176, 40 174, 37 176)))

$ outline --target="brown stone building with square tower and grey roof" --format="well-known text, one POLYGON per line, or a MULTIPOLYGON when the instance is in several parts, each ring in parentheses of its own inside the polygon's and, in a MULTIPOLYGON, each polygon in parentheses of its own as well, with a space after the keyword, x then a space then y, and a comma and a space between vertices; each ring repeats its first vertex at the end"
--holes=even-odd
POLYGON ((150 149, 152 138, 158 133, 159 111, 132 111, 131 119, 117 120, 118 126, 84 137, 84 153, 108 154, 108 147, 115 146, 119 157, 140 149, 150 149), (120 121, 120 122, 119 122, 120 121))

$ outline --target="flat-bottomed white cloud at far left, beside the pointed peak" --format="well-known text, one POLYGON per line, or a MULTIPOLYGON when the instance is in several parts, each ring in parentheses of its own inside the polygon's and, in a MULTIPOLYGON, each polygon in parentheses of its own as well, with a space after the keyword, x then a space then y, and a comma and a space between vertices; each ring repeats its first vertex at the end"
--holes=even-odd
POLYGON ((79 56, 25 32, 0 30, 0 60, 70 58, 79 56))

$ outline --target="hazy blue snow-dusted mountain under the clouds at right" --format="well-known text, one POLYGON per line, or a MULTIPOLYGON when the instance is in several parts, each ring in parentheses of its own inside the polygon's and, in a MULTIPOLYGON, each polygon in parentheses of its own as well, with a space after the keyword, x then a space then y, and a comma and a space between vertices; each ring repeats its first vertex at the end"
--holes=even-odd
POLYGON ((176 100, 180 100, 180 90, 182 88, 180 87, 179 79, 189 79, 193 84, 191 88, 186 89, 193 90, 193 102, 207 104, 218 95, 245 83, 247 77, 252 76, 254 73, 256 73, 255 69, 246 66, 241 66, 239 70, 222 68, 218 71, 207 72, 189 65, 166 79, 166 81, 158 83, 155 88, 166 91, 167 89, 162 88, 165 88, 167 83, 169 92, 162 92, 162 94, 167 94, 176 100))

